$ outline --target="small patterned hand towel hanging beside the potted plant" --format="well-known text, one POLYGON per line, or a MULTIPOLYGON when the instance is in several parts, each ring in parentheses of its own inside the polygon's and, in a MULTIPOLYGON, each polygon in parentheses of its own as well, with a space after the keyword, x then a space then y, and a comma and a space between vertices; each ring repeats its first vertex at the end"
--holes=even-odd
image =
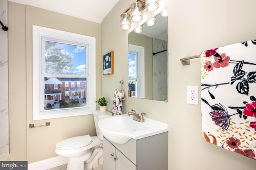
POLYGON ((112 111, 113 116, 116 114, 122 114, 122 101, 124 101, 124 92, 122 90, 115 91, 112 111))

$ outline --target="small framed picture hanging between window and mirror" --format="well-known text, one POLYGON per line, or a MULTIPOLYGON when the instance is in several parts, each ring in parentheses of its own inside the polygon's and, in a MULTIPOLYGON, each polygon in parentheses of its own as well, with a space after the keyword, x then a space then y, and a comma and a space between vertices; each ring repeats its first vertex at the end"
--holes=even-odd
POLYGON ((114 51, 103 56, 103 75, 114 74, 114 51))

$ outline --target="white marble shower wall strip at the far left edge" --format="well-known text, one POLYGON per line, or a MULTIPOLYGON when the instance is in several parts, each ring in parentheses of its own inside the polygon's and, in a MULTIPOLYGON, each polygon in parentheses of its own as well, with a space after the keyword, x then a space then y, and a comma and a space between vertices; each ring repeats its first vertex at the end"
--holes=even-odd
MULTIPOLYGON (((8 26, 8 0, 0 0, 0 20, 8 26)), ((0 26, 0 155, 9 153, 8 31, 0 26)))

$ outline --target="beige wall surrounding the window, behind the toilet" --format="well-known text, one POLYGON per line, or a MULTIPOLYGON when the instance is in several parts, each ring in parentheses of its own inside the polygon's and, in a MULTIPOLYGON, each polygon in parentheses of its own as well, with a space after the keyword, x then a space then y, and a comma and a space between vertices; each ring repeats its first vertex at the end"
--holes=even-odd
MULTIPOLYGON (((28 163, 57 156, 56 142, 90 134, 95 136, 92 115, 32 121, 32 25, 96 37, 96 63, 100 63, 100 24, 9 2, 10 158, 28 163), (18 85, 18 86, 17 86, 18 85), (50 126, 29 128, 29 124, 50 126)), ((96 65, 97 98, 100 65, 96 65)))

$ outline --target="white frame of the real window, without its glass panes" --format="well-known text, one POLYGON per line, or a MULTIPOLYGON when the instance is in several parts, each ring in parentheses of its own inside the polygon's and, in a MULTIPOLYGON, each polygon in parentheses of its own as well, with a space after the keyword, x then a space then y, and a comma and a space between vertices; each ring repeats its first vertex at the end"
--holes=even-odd
MULTIPOLYGON (((33 39, 33 120, 44 120, 51 118, 62 118, 69 116, 80 116, 92 114, 96 110, 96 38, 81 34, 55 30, 42 26, 32 26, 33 39), (86 76, 87 80, 87 100, 86 107, 44 110, 44 78, 41 76, 42 70, 42 38, 62 40, 66 42, 80 43, 86 48, 86 76), (90 89, 90 90, 89 90, 90 89), (43 94, 42 94, 43 93, 43 94)), ((44 46, 44 44, 43 44, 44 46)), ((44 53, 43 53, 44 54, 44 53)), ((56 77, 66 77, 58 74, 56 77)), ((70 75, 72 77, 72 75, 70 75)))

